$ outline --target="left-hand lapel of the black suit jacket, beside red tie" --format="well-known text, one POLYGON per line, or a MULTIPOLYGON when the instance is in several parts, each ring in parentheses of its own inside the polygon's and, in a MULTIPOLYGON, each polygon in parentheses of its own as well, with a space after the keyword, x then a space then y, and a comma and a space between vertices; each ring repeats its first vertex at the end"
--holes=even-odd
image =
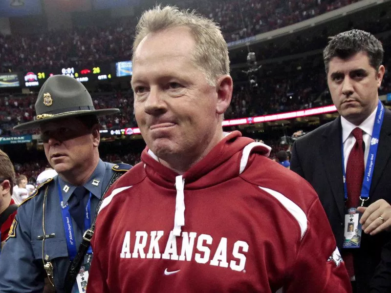
POLYGON ((342 127, 341 118, 338 117, 326 128, 323 133, 321 154, 326 170, 329 187, 337 203, 341 218, 344 217, 344 182, 342 174, 342 127))

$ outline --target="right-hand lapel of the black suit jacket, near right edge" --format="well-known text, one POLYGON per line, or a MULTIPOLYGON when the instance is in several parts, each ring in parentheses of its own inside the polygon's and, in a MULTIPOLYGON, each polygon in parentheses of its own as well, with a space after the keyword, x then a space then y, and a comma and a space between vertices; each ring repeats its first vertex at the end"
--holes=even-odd
POLYGON ((383 170, 391 156, 391 111, 386 108, 384 112, 383 125, 380 130, 379 146, 377 147, 375 168, 373 170, 372 183, 369 190, 369 200, 375 190, 383 170))

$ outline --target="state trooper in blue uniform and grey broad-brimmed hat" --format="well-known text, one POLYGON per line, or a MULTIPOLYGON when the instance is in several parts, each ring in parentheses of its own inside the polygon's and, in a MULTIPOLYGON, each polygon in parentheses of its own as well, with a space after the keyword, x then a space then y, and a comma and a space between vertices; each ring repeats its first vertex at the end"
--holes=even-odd
POLYGON ((46 275, 57 292, 82 293, 96 209, 131 167, 99 158, 97 117, 119 109, 95 110, 83 84, 55 75, 43 84, 35 110, 36 120, 14 129, 40 128, 46 158, 58 175, 18 208, 0 255, 0 293, 43 292, 46 275))

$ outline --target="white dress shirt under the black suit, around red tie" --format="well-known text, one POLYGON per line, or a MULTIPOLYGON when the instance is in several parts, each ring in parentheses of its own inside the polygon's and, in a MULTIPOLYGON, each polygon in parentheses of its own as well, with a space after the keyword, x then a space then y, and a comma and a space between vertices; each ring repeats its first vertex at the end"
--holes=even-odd
POLYGON ((363 141, 365 144, 364 168, 367 167, 370 139, 372 138, 372 130, 373 130, 373 125, 375 124, 376 111, 377 111, 377 107, 368 116, 368 118, 365 119, 363 121, 363 123, 361 123, 359 126, 356 126, 356 125, 350 123, 348 120, 346 120, 344 117, 341 116, 342 142, 344 144, 345 171, 346 171, 346 165, 348 164, 348 158, 349 158, 350 151, 353 148, 354 144, 356 143, 356 139, 354 138, 353 134, 351 133, 353 131, 353 129, 356 127, 359 127, 359 128, 361 128, 361 130, 364 131, 363 132, 363 141))

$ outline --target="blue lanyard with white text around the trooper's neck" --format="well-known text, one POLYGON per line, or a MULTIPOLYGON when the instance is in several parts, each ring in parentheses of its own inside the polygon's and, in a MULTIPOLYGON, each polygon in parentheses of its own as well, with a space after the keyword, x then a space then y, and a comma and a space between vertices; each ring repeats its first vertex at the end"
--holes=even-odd
MULTIPOLYGON (((77 253, 75 233, 73 232, 72 219, 69 213, 68 204, 64 204, 63 193, 61 191, 60 184, 58 184, 58 195, 60 198, 60 207, 63 214, 63 223, 65 230, 66 246, 68 247, 69 259, 72 261, 77 253)), ((92 193, 89 193, 89 198, 86 206, 86 212, 84 214, 84 230, 88 230, 91 227, 91 197, 92 193)), ((92 253, 91 246, 88 248, 87 253, 92 253)))

